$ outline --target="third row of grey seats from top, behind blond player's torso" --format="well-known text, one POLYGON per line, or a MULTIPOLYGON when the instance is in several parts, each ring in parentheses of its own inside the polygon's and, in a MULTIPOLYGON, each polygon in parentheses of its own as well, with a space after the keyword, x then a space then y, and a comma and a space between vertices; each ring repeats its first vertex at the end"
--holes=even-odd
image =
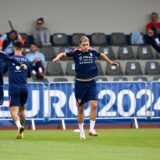
MULTIPOLYGON (((123 73, 121 65, 119 67, 106 65, 105 73, 102 69, 100 62, 96 62, 99 75, 159 75, 160 74, 160 64, 156 61, 149 61, 145 64, 145 73, 143 73, 141 65, 139 62, 127 62, 125 66, 125 71, 123 73)), ((65 71, 62 68, 60 62, 53 63, 48 62, 46 66, 46 75, 48 76, 74 76, 75 75, 75 65, 74 62, 68 62, 65 71)))

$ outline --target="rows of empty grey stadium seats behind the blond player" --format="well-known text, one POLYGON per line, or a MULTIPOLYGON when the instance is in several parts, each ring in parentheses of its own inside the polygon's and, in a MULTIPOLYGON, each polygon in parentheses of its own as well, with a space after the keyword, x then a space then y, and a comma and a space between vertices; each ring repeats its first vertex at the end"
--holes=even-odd
MULTIPOLYGON (((27 44, 31 43, 27 33, 21 33, 27 44)), ((45 66, 46 77, 47 76, 69 76, 70 80, 73 80, 75 71, 73 70, 73 58, 66 57, 60 62, 61 67, 56 67, 52 64, 52 59, 57 56, 60 52, 67 52, 70 49, 79 45, 79 39, 81 36, 86 35, 85 33, 73 33, 71 36, 66 33, 54 33, 51 36, 51 41, 54 47, 43 47, 40 51, 45 55, 48 64, 45 66), (64 63, 65 62, 65 63, 64 63), (51 67, 52 66, 52 67, 51 67), (58 69, 59 68, 59 69, 58 69), (61 70, 61 71, 60 71, 61 70)), ((106 35, 101 32, 95 32, 88 35, 91 40, 91 45, 97 49, 100 53, 106 54, 111 60, 120 62, 120 67, 116 68, 107 64, 105 61, 96 61, 97 68, 99 71, 99 77, 97 81, 122 81, 122 80, 133 80, 133 81, 147 81, 147 80, 159 80, 158 75, 160 74, 159 62, 156 59, 160 59, 160 54, 153 52, 149 45, 130 45, 128 46, 128 35, 124 33, 115 32, 110 35, 106 35), (108 41, 109 40, 109 41, 108 41), (147 61, 154 60, 154 61, 147 61), (143 74, 145 76, 143 76, 143 74), (106 75, 110 75, 106 77, 106 75), (123 76, 122 76, 123 75, 123 76), (137 76, 138 75, 138 76, 137 76), (155 77, 151 77, 155 75, 155 77)), ((30 51, 29 46, 25 45, 24 53, 30 51)), ((5 75, 7 77, 7 74, 5 75)), ((48 77, 47 77, 48 78, 48 77)), ((49 78, 48 80, 53 81, 64 81, 68 80, 68 77, 49 78), (62 79, 61 79, 62 78, 62 79)), ((45 82, 45 80, 44 80, 45 82)))

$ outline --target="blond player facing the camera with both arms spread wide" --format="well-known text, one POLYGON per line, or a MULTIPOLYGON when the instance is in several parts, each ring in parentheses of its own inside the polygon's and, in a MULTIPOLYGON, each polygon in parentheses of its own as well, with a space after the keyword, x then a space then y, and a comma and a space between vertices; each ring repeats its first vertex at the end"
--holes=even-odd
POLYGON ((82 36, 80 46, 66 53, 60 53, 54 62, 68 56, 73 57, 75 62, 76 80, 75 80, 75 98, 78 107, 78 125, 80 129, 80 139, 86 139, 84 132, 84 103, 89 101, 90 105, 90 136, 97 136, 95 131, 95 121, 97 114, 97 89, 95 77, 98 76, 96 66, 96 57, 103 59, 114 66, 119 66, 118 63, 111 61, 104 53, 99 53, 90 47, 89 39, 82 36))

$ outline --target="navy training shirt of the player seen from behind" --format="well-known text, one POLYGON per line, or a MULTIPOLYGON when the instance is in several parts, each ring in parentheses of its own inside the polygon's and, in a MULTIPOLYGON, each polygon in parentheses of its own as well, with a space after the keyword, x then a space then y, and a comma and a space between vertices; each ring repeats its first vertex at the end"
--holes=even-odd
POLYGON ((9 73, 9 85, 10 86, 24 86, 27 84, 27 77, 31 77, 30 64, 25 56, 16 56, 13 55, 10 58, 13 58, 20 62, 20 64, 26 64, 27 69, 22 69, 20 66, 15 63, 9 62, 8 64, 8 73, 9 73))

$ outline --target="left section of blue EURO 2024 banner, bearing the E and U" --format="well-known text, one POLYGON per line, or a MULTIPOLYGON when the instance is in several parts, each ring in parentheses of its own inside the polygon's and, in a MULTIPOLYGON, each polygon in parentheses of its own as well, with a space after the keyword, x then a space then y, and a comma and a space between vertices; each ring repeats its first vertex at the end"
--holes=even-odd
MULTIPOLYGON (((28 101, 26 104, 27 118, 44 119, 44 85, 43 83, 28 84, 28 101)), ((4 85, 4 103, 0 106, 0 119, 11 118, 9 112, 8 84, 4 85)))

